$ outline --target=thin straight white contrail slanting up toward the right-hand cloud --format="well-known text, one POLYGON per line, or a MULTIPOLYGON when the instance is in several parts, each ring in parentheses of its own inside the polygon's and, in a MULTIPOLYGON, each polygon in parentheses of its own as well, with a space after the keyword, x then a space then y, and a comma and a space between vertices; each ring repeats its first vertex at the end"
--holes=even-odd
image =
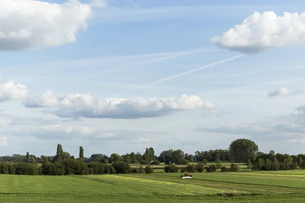
MULTIPOLYGON (((157 83, 164 82, 164 81, 167 81, 167 80, 170 80, 170 79, 173 79, 173 78, 177 78, 179 76, 183 76, 183 75, 186 75, 186 74, 189 74, 189 73, 192 73, 192 72, 200 71, 202 69, 206 69, 207 67, 215 66, 215 65, 218 65, 218 64, 230 61, 230 60, 234 60, 236 58, 240 58, 241 56, 243 56, 243 54, 239 54, 237 56, 233 56, 233 57, 230 57, 230 58, 227 58, 227 59, 224 59, 224 60, 220 60, 220 61, 217 61, 217 62, 214 62, 214 63, 210 63, 208 65, 204 65, 204 66, 198 67, 197 69, 194 69, 194 70, 191 70, 191 71, 186 71, 184 73, 179 73, 179 74, 176 74, 176 75, 173 75, 173 76, 169 76, 167 78, 163 78, 161 80, 150 82, 150 83, 141 85, 139 87, 135 87, 135 88, 129 89, 127 91, 120 92, 118 94, 124 94, 124 93, 130 92, 130 91, 133 91, 133 90, 136 90, 136 89, 140 89, 140 88, 143 88, 143 87, 146 87, 146 86, 149 86, 149 85, 157 84, 157 83)), ((115 94, 115 95, 117 95, 117 94, 115 94)))

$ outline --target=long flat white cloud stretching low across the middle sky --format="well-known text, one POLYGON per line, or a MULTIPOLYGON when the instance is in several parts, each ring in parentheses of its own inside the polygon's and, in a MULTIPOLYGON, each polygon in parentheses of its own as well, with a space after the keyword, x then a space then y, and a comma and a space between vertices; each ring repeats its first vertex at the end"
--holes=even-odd
POLYGON ((215 109, 216 105, 196 95, 170 98, 106 98, 96 99, 90 94, 59 96, 47 91, 23 102, 27 108, 54 108, 50 112, 61 118, 137 119, 160 117, 174 112, 194 109, 215 109))

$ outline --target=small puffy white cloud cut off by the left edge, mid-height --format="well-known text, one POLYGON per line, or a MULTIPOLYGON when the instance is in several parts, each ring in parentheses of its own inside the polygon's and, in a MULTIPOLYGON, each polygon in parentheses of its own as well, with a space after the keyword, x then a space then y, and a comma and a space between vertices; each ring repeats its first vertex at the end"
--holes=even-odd
POLYGON ((0 84, 0 103, 13 99, 25 99, 27 88, 23 84, 15 84, 14 81, 0 84))

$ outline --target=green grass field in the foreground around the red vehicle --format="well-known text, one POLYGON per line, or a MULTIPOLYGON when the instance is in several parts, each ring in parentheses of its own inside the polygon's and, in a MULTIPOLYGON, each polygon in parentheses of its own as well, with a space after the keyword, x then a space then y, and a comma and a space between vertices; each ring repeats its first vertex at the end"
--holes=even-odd
POLYGON ((305 171, 0 175, 0 202, 305 202, 305 171))

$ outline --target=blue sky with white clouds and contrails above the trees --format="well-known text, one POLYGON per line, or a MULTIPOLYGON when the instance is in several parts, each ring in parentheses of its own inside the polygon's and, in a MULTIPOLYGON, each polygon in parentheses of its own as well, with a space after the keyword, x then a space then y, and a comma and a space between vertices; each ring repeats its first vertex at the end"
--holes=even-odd
POLYGON ((305 153, 303 1, 0 4, 0 155, 305 153))

